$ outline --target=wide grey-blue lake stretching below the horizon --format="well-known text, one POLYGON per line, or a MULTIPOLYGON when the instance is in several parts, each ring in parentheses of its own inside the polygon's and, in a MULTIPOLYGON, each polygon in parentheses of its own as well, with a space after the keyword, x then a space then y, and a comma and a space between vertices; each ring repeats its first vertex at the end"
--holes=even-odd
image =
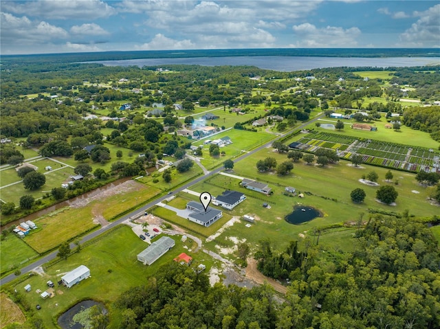
POLYGON ((250 65, 274 71, 300 71, 324 67, 415 67, 440 65, 440 57, 312 57, 312 56, 231 56, 191 58, 141 58, 131 60, 98 60, 105 66, 158 66, 158 65, 250 65))

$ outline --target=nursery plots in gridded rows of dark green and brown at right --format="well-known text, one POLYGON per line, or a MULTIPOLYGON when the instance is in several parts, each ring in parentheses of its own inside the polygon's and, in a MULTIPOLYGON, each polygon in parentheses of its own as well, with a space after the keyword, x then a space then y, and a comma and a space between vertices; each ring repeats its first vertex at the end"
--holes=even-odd
POLYGON ((440 157, 439 151, 430 148, 416 148, 375 139, 360 140, 318 131, 305 135, 298 143, 295 148, 300 150, 314 152, 318 148, 330 148, 338 151, 342 159, 349 160, 352 155, 358 154, 364 156, 364 163, 413 172, 432 168, 440 157))

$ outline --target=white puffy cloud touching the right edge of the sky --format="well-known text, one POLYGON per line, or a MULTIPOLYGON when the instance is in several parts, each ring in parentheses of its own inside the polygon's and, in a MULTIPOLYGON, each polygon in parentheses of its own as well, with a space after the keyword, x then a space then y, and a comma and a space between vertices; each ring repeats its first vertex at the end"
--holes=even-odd
POLYGON ((440 43, 440 5, 434 5, 425 12, 415 12, 421 18, 400 34, 400 46, 437 47, 440 43))

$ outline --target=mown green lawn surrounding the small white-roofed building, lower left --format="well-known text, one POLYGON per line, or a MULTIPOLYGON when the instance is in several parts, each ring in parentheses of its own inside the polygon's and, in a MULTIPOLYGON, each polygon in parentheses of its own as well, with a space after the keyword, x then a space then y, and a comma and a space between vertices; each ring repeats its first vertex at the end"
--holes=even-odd
MULTIPOLYGON (((98 238, 94 244, 84 247, 80 253, 75 253, 67 260, 50 266, 46 269, 44 276, 34 275, 17 284, 14 288, 23 294, 30 305, 41 305, 39 316, 43 320, 45 328, 58 328, 54 325, 56 318, 83 299, 95 299, 103 302, 110 313, 109 328, 118 328, 122 315, 119 310, 114 308, 113 302, 132 286, 145 284, 148 277, 154 275, 160 266, 172 262, 179 253, 188 253, 188 249, 184 249, 184 245, 189 249, 192 247, 191 242, 183 243, 178 236, 171 238, 176 241, 175 247, 151 266, 144 266, 137 261, 137 253, 148 247, 148 244, 133 234, 130 227, 122 225, 122 227, 98 238), (41 299, 40 294, 36 293, 36 289, 41 289, 41 291, 47 289, 47 280, 57 282, 62 275, 79 265, 89 267, 91 277, 72 288, 56 285, 55 296, 52 298, 41 299), (32 286, 30 293, 25 293, 23 289, 26 284, 32 286)), ((196 264, 198 262, 206 264, 206 271, 214 263, 206 253, 188 254, 192 256, 196 264)))

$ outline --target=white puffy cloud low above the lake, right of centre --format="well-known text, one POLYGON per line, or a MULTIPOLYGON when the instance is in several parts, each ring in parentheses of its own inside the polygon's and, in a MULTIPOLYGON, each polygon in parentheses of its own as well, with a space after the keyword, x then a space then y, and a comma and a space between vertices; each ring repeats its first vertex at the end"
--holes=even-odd
POLYGON ((358 27, 346 30, 334 26, 318 28, 310 23, 294 25, 292 30, 298 36, 294 47, 355 47, 358 45, 356 39, 361 34, 358 27))

